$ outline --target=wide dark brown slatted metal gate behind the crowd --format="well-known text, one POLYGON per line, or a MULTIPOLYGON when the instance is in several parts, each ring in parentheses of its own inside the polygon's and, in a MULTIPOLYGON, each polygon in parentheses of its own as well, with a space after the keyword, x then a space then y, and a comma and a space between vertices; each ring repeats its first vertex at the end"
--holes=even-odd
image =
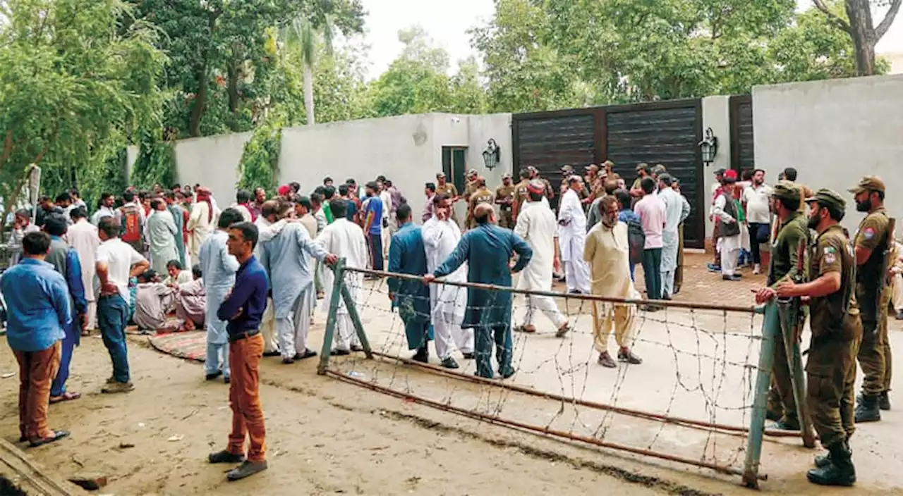
POLYGON ((582 173, 590 163, 613 161, 628 188, 639 162, 664 164, 680 179, 681 190, 693 207, 684 227, 684 244, 703 248, 706 195, 697 146, 703 139, 701 100, 516 114, 511 127, 514 173, 533 165, 556 188, 565 164, 582 173))

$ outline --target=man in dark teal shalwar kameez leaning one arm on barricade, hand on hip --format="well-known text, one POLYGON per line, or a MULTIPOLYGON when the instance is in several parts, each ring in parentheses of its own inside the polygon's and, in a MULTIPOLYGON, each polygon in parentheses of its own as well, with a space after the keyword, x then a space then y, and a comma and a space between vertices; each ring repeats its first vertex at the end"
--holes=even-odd
MULTIPOLYGON (((496 224, 495 210, 489 204, 474 208, 477 227, 463 236, 454 252, 432 274, 424 276, 424 283, 446 276, 461 263, 468 262, 468 282, 511 286, 511 273, 522 271, 533 257, 523 239, 510 229, 496 224), (517 263, 509 268, 512 253, 517 253, 517 263)), ((487 289, 467 289, 467 311, 461 328, 473 328, 476 337, 477 375, 492 379, 492 343, 496 344, 498 373, 503 379, 514 375, 511 366, 511 293, 487 289)))

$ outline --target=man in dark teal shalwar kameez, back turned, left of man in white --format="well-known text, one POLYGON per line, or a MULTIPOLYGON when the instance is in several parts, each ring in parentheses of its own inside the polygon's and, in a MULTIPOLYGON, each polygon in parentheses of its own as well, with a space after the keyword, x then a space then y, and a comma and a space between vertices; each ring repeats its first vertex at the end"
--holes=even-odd
MULTIPOLYGON (((389 243, 389 271, 422 276, 426 273, 424 234, 419 225, 411 222, 411 207, 403 204, 396 211, 398 231, 389 243)), ((427 363, 430 354, 426 347, 430 334, 430 289, 418 280, 388 280, 389 299, 398 308, 398 315, 405 321, 407 349, 417 350, 414 360, 427 363)), ((449 357, 442 362, 449 369, 457 369, 458 363, 449 357)))

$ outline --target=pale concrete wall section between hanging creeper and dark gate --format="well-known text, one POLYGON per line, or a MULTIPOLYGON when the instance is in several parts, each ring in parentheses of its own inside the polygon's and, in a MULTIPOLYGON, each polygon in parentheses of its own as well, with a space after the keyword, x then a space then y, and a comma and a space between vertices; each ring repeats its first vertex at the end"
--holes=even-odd
POLYGON ((511 115, 399 115, 317 124, 283 130, 280 182, 298 181, 312 190, 330 176, 337 183, 358 183, 385 175, 408 198, 415 218, 424 207, 424 183, 442 170, 442 146, 468 147, 467 167, 501 182, 511 168, 511 115), (485 170, 482 151, 489 138, 502 147, 502 160, 485 170))

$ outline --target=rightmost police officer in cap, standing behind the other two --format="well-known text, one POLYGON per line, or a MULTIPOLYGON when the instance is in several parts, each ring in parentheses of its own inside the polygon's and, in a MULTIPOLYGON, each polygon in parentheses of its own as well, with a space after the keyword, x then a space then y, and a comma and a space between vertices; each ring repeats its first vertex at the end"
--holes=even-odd
POLYGON ((859 266, 856 300, 862 315, 862 345, 858 358, 865 375, 861 395, 857 398, 856 421, 875 422, 881 419, 880 409, 890 409, 888 306, 891 292, 887 273, 896 254, 892 253, 891 221, 884 208, 884 182, 866 176, 850 192, 856 200, 856 210, 867 212, 853 238, 859 266))

